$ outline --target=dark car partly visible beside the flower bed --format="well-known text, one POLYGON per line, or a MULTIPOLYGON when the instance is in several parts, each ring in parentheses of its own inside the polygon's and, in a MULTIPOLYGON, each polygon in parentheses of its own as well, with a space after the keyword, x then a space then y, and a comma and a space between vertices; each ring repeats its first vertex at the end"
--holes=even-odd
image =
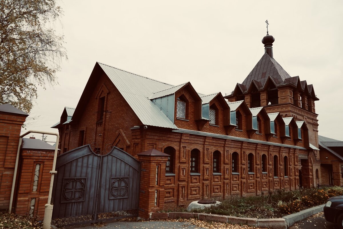
POLYGON ((328 199, 324 206, 324 216, 327 221, 343 229, 343 196, 333 196, 328 199))

